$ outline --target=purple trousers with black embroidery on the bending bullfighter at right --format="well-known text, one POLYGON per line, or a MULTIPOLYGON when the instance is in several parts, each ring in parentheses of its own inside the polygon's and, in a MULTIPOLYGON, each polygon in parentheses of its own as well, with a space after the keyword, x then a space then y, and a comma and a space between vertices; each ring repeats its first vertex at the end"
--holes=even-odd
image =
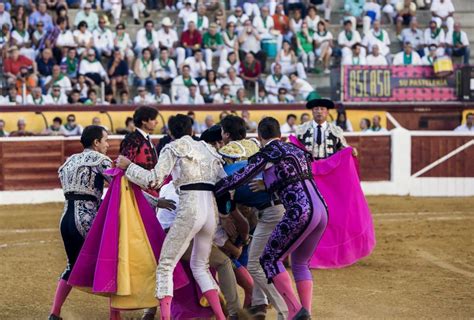
POLYGON ((286 212, 273 230, 260 257, 260 264, 271 281, 285 271, 283 260, 291 254, 295 281, 312 280, 309 262, 326 229, 326 205, 310 180, 283 190, 280 198, 286 212))

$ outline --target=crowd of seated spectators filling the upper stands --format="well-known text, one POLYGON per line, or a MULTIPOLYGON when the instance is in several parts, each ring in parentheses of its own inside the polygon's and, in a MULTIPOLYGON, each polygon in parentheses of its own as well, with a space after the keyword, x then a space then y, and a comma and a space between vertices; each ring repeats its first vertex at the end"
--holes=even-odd
POLYGON ((469 40, 454 23, 451 0, 431 2, 424 31, 416 19, 418 7, 428 6, 424 0, 344 0, 337 37, 329 30, 333 6, 332 0, 0 2, 8 91, 0 104, 288 103, 319 96, 308 74, 329 74, 339 61, 432 65, 449 55, 469 62, 469 40), (177 11, 177 21, 165 16, 155 24, 149 18, 155 10, 177 11), (127 30, 127 11, 142 26, 136 34, 127 30), (396 26, 401 52, 390 49, 387 23, 396 26))

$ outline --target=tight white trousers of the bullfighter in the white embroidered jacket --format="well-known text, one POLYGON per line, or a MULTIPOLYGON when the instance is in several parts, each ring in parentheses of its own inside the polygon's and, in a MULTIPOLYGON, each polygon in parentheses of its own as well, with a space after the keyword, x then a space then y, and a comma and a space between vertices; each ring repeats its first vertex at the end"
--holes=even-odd
POLYGON ((173 271, 194 239, 190 266, 202 292, 218 289, 209 272, 209 255, 217 226, 211 191, 179 191, 176 220, 166 235, 156 268, 156 297, 173 296, 173 271))

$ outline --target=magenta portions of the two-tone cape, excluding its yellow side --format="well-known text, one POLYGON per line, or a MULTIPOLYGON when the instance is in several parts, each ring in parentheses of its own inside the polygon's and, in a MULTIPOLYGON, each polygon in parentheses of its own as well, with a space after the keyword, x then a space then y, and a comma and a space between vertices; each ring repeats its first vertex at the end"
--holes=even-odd
MULTIPOLYGON (((114 294, 117 291, 120 188, 124 172, 120 169, 110 169, 106 173, 114 178, 68 281, 70 285, 90 288, 92 293, 105 295, 114 294)), ((141 189, 132 183, 130 185, 133 188, 148 240, 158 262, 166 234, 141 189)), ((182 265, 178 264, 174 271, 175 289, 182 288, 188 283, 188 276, 182 265)))

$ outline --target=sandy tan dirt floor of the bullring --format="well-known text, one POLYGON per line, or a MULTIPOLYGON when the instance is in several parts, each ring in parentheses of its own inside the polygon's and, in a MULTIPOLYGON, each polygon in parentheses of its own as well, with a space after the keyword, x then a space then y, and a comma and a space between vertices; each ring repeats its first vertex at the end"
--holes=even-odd
MULTIPOLYGON (((370 197, 369 203, 377 247, 354 266, 313 272, 313 319, 474 318, 474 198, 370 197)), ((0 207, 0 319, 48 317, 65 267, 61 210, 61 204, 0 207)), ((62 313, 65 320, 107 315, 106 298, 77 290, 62 313)))

